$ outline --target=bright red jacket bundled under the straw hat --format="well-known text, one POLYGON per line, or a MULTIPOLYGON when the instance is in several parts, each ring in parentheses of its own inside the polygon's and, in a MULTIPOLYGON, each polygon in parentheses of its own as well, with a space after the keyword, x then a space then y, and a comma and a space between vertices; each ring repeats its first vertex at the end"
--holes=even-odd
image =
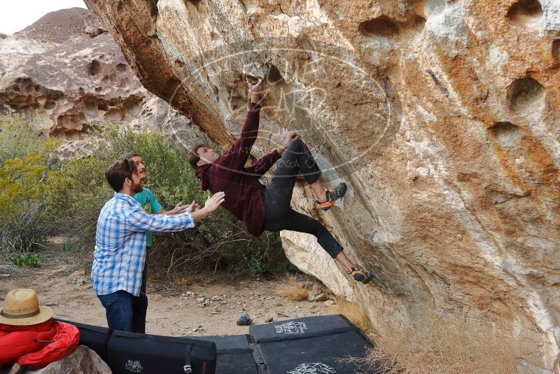
POLYGON ((0 368, 14 362, 30 370, 42 368, 71 354, 78 342, 76 326, 52 319, 31 326, 0 324, 0 368))

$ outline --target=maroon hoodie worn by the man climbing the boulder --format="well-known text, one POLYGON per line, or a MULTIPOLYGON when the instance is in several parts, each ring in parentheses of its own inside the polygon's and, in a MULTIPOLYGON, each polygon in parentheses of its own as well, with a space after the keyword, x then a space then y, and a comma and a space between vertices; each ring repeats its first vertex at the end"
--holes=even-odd
POLYGON ((204 191, 225 192, 222 206, 243 221, 248 233, 262 234, 265 221, 265 186, 258 180, 280 158, 274 150, 245 167, 251 147, 258 134, 260 105, 249 103, 249 111, 241 129, 241 136, 230 151, 211 164, 197 167, 196 175, 204 191))

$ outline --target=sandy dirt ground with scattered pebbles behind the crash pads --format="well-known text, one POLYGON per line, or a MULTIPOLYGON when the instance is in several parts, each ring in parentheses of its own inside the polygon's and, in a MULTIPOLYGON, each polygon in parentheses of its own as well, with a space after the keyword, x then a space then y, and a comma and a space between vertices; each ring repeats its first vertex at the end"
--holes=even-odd
MULTIPOLYGON (((40 252, 39 268, 18 267, 0 262, 0 303, 15 288, 37 291, 41 305, 52 307, 56 316, 85 324, 107 326, 105 310, 92 291, 89 272, 80 271, 72 254, 59 249, 40 252)), ((253 317, 253 324, 281 321, 314 314, 333 314, 325 303, 290 302, 276 294, 289 279, 312 283, 306 275, 276 279, 239 279, 232 284, 186 284, 179 291, 156 291, 162 287, 148 279, 146 333, 158 335, 235 335, 248 333, 237 326, 241 313, 253 317), (204 302, 201 303, 202 298, 204 302)), ((177 290, 177 287, 174 287, 177 290)))

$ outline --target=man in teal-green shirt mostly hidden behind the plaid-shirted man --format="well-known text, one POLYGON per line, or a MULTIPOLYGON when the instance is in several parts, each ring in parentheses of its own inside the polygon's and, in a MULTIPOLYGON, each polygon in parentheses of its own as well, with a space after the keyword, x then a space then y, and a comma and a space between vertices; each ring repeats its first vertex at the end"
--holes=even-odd
MULTIPOLYGON (((138 169, 138 174, 140 176, 140 180, 146 178, 146 166, 144 165, 144 160, 138 155, 137 153, 128 153, 124 155, 123 158, 127 160, 132 160, 136 162, 136 167, 138 169)), ((190 205, 183 205, 183 202, 179 202, 172 210, 165 211, 163 207, 160 205, 158 200, 153 195, 152 191, 148 190, 148 188, 144 187, 142 192, 136 193, 134 195, 134 200, 137 200, 144 210, 148 214, 181 214, 181 213, 192 213, 195 210, 200 209, 199 205, 196 204, 194 201, 190 205)), ((152 233, 146 233, 146 263, 144 263, 144 270, 142 272, 142 285, 140 287, 140 291, 146 293, 146 279, 148 278, 148 258, 150 255, 150 248, 152 247, 152 233)))

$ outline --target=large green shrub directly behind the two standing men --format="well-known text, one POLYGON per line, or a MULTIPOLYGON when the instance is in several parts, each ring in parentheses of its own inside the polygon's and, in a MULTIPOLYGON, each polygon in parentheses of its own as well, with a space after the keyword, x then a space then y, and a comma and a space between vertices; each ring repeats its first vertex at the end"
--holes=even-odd
MULTIPOLYGON (((109 127, 99 136, 99 146, 90 155, 70 160, 62 167, 66 179, 59 181, 54 193, 55 205, 66 209, 64 227, 73 238, 72 247, 84 253, 81 258, 86 268, 92 261, 99 211, 113 195, 104 172, 121 155, 141 155, 148 172, 144 187, 150 188, 166 210, 181 201, 195 200, 203 205, 209 197, 200 190, 188 165, 188 151, 160 132, 109 127)), ((290 269, 278 234, 265 233, 259 238, 248 235, 241 223, 222 208, 195 229, 155 234, 150 263, 153 275, 190 279, 218 269, 251 276, 290 269)))

